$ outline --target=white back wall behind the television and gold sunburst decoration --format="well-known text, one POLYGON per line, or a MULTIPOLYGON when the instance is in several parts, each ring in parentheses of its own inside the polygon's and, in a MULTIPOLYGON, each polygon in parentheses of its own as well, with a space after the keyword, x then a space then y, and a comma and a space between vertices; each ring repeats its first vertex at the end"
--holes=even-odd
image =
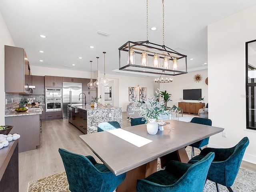
POLYGON ((173 106, 174 104, 178 107, 178 102, 198 102, 197 100, 183 100, 183 90, 184 89, 202 89, 202 97, 204 97, 203 103, 208 103, 208 85, 205 83, 208 77, 207 70, 200 72, 190 72, 187 74, 172 76, 171 83, 159 83, 160 89, 165 88, 166 91, 171 95, 171 100, 167 106, 173 106), (194 76, 200 74, 202 76, 202 81, 195 82, 194 76), (180 100, 182 98, 182 100, 180 100))

